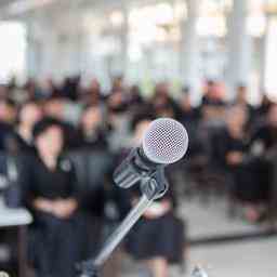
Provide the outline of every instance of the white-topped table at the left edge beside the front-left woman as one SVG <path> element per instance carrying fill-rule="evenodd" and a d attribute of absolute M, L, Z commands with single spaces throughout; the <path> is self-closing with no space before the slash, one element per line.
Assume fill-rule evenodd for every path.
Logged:
<path fill-rule="evenodd" d="M 27 210 L 0 205 L 0 228 L 17 228 L 18 277 L 27 277 L 27 226 L 31 222 L 31 214 Z"/>

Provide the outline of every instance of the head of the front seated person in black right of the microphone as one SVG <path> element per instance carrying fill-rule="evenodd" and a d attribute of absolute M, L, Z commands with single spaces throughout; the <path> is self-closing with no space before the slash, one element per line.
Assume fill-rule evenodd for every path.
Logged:
<path fill-rule="evenodd" d="M 243 106 L 235 105 L 227 109 L 226 123 L 229 130 L 243 130 L 248 120 L 247 109 Z"/>

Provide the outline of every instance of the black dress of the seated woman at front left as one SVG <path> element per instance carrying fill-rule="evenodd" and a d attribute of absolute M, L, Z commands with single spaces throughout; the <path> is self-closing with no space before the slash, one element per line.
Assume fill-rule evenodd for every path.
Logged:
<path fill-rule="evenodd" d="M 28 157 L 21 174 L 23 200 L 35 219 L 29 241 L 34 267 L 40 277 L 75 276 L 76 262 L 87 254 L 85 217 L 76 211 L 69 219 L 58 219 L 32 207 L 35 198 L 77 198 L 70 161 L 61 159 L 57 168 L 50 170 L 39 158 Z"/>

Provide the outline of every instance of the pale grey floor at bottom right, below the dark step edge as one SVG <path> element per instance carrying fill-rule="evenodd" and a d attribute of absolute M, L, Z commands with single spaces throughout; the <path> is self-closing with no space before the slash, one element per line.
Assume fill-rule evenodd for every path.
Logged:
<path fill-rule="evenodd" d="M 209 277 L 272 277 L 277 275 L 277 237 L 190 250 L 192 265 L 201 265 Z M 182 276 L 175 274 L 175 276 Z M 188 276 L 188 275 L 187 275 Z"/>

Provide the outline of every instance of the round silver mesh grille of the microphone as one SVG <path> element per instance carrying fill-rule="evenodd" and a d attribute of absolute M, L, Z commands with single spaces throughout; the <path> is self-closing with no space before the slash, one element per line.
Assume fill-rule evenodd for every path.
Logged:
<path fill-rule="evenodd" d="M 171 118 L 154 120 L 143 137 L 143 151 L 153 162 L 169 164 L 183 158 L 188 147 L 186 129 Z"/>

